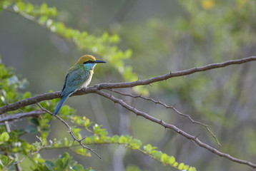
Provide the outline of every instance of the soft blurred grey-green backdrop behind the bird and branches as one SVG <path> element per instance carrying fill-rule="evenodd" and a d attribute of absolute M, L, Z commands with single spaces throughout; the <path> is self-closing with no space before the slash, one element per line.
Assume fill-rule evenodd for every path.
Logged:
<path fill-rule="evenodd" d="M 124 60 L 139 79 L 180 71 L 210 63 L 255 56 L 256 2 L 246 0 L 77 0 L 30 1 L 31 4 L 56 6 L 54 18 L 70 28 L 96 36 L 104 32 L 119 35 L 118 48 L 132 51 Z M 99 60 L 107 56 L 79 49 L 23 17 L 2 11 L 0 14 L 0 53 L 6 66 L 15 68 L 29 86 L 21 91 L 33 95 L 61 90 L 67 70 L 80 56 L 92 54 Z M 144 100 L 126 98 L 138 110 L 176 125 L 218 150 L 251 162 L 256 161 L 256 77 L 255 62 L 228 66 L 146 86 L 149 97 L 160 99 L 195 120 L 209 125 L 217 135 L 218 146 L 205 128 Z M 102 82 L 126 81 L 113 63 L 98 65 L 91 86 Z M 123 90 L 134 93 L 131 88 Z M 132 135 L 150 143 L 176 160 L 197 170 L 252 170 L 219 157 L 193 142 L 164 130 L 161 126 L 137 117 L 119 105 L 89 94 L 69 98 L 65 103 L 106 128 L 109 135 Z M 16 123 L 19 127 L 24 124 Z M 59 120 L 51 123 L 51 138 L 69 136 Z M 57 131 L 57 130 L 61 130 Z M 62 133 L 64 132 L 64 133 Z M 33 142 L 32 137 L 30 138 Z M 94 147 L 93 147 L 94 148 Z M 140 170 L 174 170 L 119 145 L 95 147 L 103 157 L 74 159 L 94 170 L 122 171 L 137 165 Z M 63 150 L 41 152 L 46 158 L 57 157 Z"/>

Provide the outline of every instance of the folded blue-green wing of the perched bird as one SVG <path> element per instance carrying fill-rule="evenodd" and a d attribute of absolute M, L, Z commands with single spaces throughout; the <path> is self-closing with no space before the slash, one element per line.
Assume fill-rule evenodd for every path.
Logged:
<path fill-rule="evenodd" d="M 69 71 L 64 81 L 61 90 L 61 97 L 71 95 L 77 88 L 82 86 L 84 81 L 89 78 L 89 71 L 84 71 L 82 68 Z"/>

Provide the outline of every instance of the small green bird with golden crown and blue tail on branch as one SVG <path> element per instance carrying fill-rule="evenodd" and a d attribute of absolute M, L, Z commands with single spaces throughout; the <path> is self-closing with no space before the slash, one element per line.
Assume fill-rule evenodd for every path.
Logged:
<path fill-rule="evenodd" d="M 94 74 L 94 67 L 97 63 L 106 63 L 105 61 L 96 60 L 92 55 L 84 55 L 79 58 L 77 63 L 69 68 L 65 76 L 64 85 L 59 93 L 59 98 L 61 99 L 56 106 L 54 113 L 52 114 L 51 120 L 54 115 L 59 113 L 61 106 L 67 100 L 67 98 L 76 92 L 79 88 L 86 88 L 92 81 L 92 75 Z M 48 126 L 51 123 L 51 120 Z"/>

